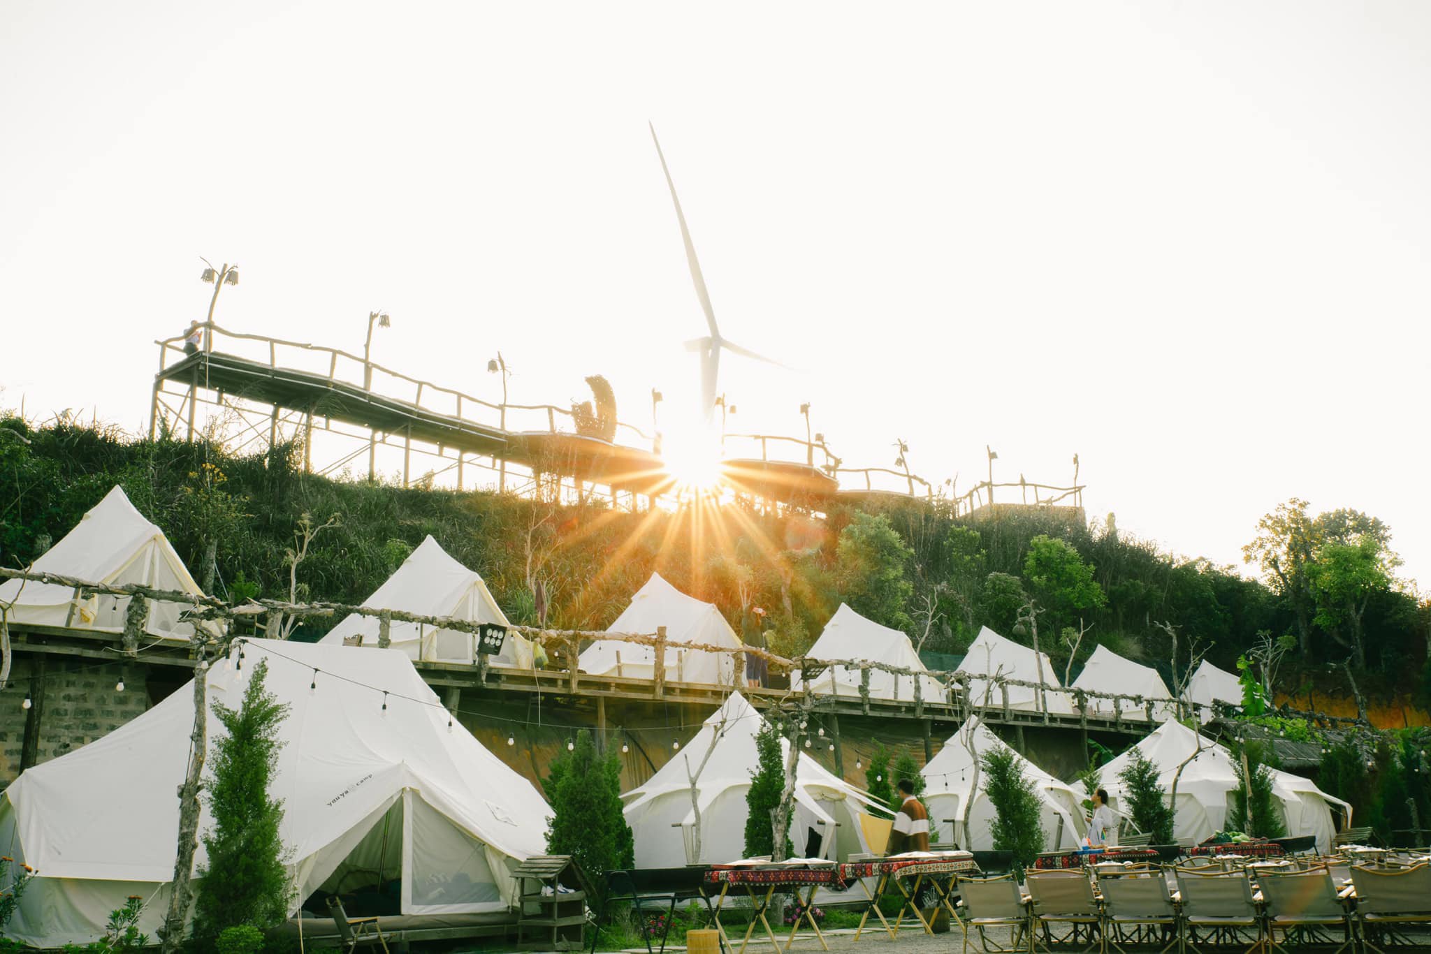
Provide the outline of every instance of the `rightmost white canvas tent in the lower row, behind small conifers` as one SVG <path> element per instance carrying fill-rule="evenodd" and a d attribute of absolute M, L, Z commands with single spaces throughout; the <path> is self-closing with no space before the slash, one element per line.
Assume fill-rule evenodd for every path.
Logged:
<path fill-rule="evenodd" d="M 1158 784 L 1165 792 L 1172 791 L 1172 780 L 1178 765 L 1188 759 L 1202 739 L 1202 751 L 1188 762 L 1178 780 L 1178 804 L 1173 807 L 1173 838 L 1191 845 L 1212 837 L 1226 825 L 1236 790 L 1236 769 L 1226 748 L 1199 737 L 1182 722 L 1168 719 L 1155 732 L 1145 737 L 1102 769 L 1103 788 L 1108 790 L 1109 805 L 1122 811 L 1122 771 L 1132 764 L 1135 752 L 1142 752 L 1158 767 Z M 1349 818 L 1351 807 L 1317 788 L 1299 775 L 1274 769 L 1274 794 L 1282 811 L 1282 821 L 1289 835 L 1315 835 L 1317 847 L 1324 854 L 1331 848 L 1337 825 L 1332 807 Z"/>

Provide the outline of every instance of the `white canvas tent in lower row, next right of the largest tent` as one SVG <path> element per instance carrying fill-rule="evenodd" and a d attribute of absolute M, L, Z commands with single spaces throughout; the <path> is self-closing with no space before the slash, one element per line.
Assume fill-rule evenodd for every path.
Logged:
<path fill-rule="evenodd" d="M 670 762 L 644 785 L 621 797 L 627 824 L 635 835 L 637 867 L 680 867 L 737 861 L 741 857 L 750 814 L 746 792 L 760 762 L 756 734 L 763 725 L 760 712 L 740 692 L 733 692 Z M 687 765 L 695 772 L 713 739 L 716 749 L 697 780 L 701 857 L 693 858 L 695 812 Z M 788 755 L 787 739 L 781 739 L 781 749 Z M 843 861 L 851 854 L 870 851 L 859 820 L 869 804 L 863 792 L 801 752 L 796 768 L 796 810 L 790 822 L 794 857 L 810 857 L 811 831 L 820 838 L 819 857 Z M 680 837 L 673 827 L 680 828 Z M 883 848 L 879 845 L 876 850 Z"/>

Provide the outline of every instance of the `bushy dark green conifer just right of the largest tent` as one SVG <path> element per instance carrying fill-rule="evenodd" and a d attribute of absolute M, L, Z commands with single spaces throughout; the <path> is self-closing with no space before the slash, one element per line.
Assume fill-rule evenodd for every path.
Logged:
<path fill-rule="evenodd" d="M 621 812 L 621 761 L 598 755 L 591 732 L 580 729 L 571 751 L 552 759 L 544 788 L 552 808 L 547 851 L 575 858 L 595 884 L 607 871 L 635 864 L 635 840 Z"/>

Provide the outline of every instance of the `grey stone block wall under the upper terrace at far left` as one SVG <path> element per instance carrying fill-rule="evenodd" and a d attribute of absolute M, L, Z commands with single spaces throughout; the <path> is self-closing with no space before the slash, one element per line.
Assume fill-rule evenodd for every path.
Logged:
<path fill-rule="evenodd" d="M 20 774 L 26 721 L 37 711 L 40 734 L 36 761 L 73 752 L 107 735 L 150 707 L 147 667 L 93 659 L 44 659 L 44 689 L 36 685 L 36 657 L 19 655 L 10 682 L 0 689 L 0 785 Z M 124 688 L 117 684 L 123 679 Z M 31 698 L 31 708 L 24 699 Z"/>

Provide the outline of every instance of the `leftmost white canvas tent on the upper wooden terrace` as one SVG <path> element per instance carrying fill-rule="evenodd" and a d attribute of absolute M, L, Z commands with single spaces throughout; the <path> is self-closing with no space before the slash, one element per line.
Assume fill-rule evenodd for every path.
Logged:
<path fill-rule="evenodd" d="M 90 584 L 140 585 L 202 595 L 165 532 L 145 519 L 119 486 L 34 561 L 31 571 Z M 110 595 L 77 599 L 73 588 L 59 584 L 10 579 L 0 585 L 0 605 L 7 606 L 10 622 L 119 632 L 124 628 L 129 601 L 129 596 Z M 162 639 L 187 641 L 193 625 L 180 622 L 179 616 L 189 608 L 149 601 L 146 631 Z"/>

